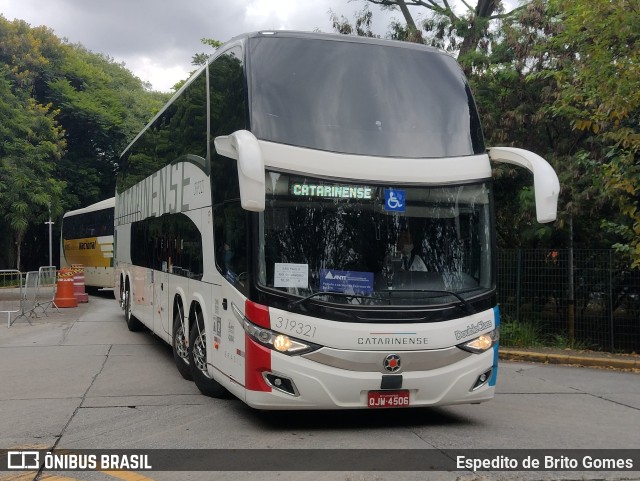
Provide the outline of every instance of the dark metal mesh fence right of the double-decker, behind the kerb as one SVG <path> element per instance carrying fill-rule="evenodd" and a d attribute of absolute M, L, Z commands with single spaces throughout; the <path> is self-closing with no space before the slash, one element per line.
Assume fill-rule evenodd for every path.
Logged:
<path fill-rule="evenodd" d="M 497 267 L 505 341 L 640 351 L 640 271 L 615 251 L 502 249 Z"/>

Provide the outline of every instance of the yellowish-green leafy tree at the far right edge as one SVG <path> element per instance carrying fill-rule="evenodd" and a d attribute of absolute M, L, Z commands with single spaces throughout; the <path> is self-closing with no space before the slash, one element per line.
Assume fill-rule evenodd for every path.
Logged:
<path fill-rule="evenodd" d="M 640 3 L 550 0 L 560 30 L 549 48 L 562 52 L 546 74 L 555 81 L 551 111 L 584 136 L 587 151 L 620 216 L 603 223 L 616 247 L 640 268 Z"/>

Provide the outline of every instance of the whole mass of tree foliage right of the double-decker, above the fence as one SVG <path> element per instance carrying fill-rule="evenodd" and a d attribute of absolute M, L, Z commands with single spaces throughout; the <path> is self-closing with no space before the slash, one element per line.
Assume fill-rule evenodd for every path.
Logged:
<path fill-rule="evenodd" d="M 529 0 L 509 12 L 500 2 L 464 2 L 463 15 L 445 0 L 368 3 L 403 11 L 390 38 L 459 54 L 488 145 L 532 150 L 556 169 L 559 219 L 541 226 L 530 175 L 495 166 L 500 245 L 615 244 L 640 266 L 638 0 Z M 403 5 L 430 15 L 414 21 Z M 345 24 L 334 29 L 359 33 Z"/>

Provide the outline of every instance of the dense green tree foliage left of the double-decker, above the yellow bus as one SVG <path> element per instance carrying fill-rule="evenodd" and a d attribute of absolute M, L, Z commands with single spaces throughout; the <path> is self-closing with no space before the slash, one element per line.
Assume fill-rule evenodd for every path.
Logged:
<path fill-rule="evenodd" d="M 0 231 L 12 233 L 0 266 L 42 263 L 49 206 L 57 219 L 113 195 L 119 153 L 166 97 L 104 55 L 0 15 Z M 21 256 L 26 238 L 39 242 Z"/>

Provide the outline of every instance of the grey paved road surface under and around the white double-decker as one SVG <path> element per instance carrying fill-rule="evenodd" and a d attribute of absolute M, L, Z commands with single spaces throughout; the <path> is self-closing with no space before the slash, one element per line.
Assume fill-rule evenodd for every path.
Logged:
<path fill-rule="evenodd" d="M 640 375 L 633 372 L 501 362 L 498 394 L 481 405 L 265 412 L 238 400 L 200 395 L 178 374 L 167 345 L 148 332 L 127 330 L 113 298 L 91 296 L 76 309 L 48 313 L 0 327 L 0 449 L 268 448 L 283 449 L 278 456 L 286 457 L 296 456 L 296 449 L 322 448 L 335 450 L 338 458 L 364 452 L 348 450 L 372 449 L 394 456 L 394 449 L 494 449 L 500 455 L 509 449 L 640 448 Z M 0 480 L 640 480 L 640 463 L 633 472 L 478 474 L 260 472 L 251 467 L 235 472 L 0 471 Z"/>

